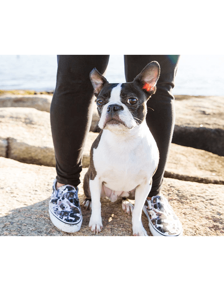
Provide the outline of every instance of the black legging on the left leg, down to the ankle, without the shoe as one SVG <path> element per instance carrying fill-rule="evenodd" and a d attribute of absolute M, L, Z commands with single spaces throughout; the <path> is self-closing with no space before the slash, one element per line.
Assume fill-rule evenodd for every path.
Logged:
<path fill-rule="evenodd" d="M 108 61 L 109 55 L 58 55 L 50 119 L 60 184 L 80 184 L 81 158 L 92 119 L 89 74 L 94 67 L 103 74 Z"/>

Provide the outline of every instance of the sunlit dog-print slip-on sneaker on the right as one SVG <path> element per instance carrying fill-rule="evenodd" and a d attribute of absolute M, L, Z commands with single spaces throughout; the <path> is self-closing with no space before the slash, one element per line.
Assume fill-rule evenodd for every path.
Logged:
<path fill-rule="evenodd" d="M 182 226 L 168 200 L 162 195 L 147 198 L 143 211 L 149 220 L 153 236 L 182 236 Z"/>

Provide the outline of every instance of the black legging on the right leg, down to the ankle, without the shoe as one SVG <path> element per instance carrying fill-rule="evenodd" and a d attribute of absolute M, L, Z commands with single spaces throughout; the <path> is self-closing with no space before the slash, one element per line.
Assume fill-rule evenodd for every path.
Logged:
<path fill-rule="evenodd" d="M 172 140 L 175 110 L 172 88 L 177 72 L 179 55 L 125 55 L 125 77 L 132 82 L 151 61 L 160 65 L 156 93 L 147 102 L 146 122 L 159 149 L 159 165 L 153 175 L 149 196 L 160 194 L 169 147 Z"/>

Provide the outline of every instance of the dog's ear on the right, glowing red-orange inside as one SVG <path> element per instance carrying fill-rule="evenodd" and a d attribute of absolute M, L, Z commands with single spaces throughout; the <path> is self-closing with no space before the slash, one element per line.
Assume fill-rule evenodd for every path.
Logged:
<path fill-rule="evenodd" d="M 159 63 L 153 61 L 140 72 L 133 82 L 136 82 L 138 85 L 140 85 L 144 91 L 153 94 L 156 91 L 156 83 L 159 79 L 159 74 Z"/>

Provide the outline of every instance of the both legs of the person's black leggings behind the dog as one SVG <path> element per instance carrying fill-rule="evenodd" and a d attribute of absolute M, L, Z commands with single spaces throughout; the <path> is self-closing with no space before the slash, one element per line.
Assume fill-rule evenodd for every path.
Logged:
<path fill-rule="evenodd" d="M 90 71 L 103 74 L 109 55 L 58 55 L 56 88 L 50 119 L 55 148 L 57 180 L 62 184 L 80 184 L 81 159 L 90 130 L 95 97 Z M 125 55 L 125 78 L 132 82 L 151 61 L 160 65 L 156 94 L 147 102 L 146 122 L 159 148 L 159 166 L 153 175 L 149 196 L 160 194 L 165 165 L 175 122 L 174 87 L 179 55 Z"/>

